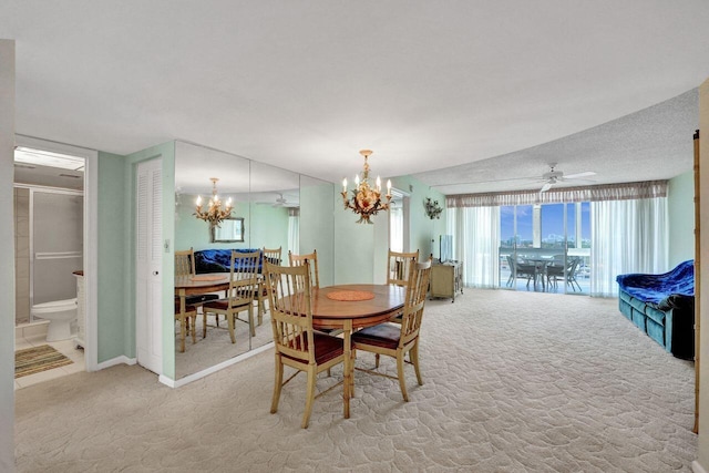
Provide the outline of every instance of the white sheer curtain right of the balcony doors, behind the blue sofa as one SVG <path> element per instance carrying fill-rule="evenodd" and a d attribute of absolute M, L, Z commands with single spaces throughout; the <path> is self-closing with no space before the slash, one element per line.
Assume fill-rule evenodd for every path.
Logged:
<path fill-rule="evenodd" d="M 590 203 L 590 295 L 618 295 L 616 276 L 669 270 L 667 197 Z"/>

